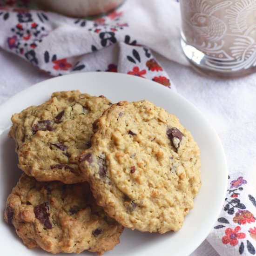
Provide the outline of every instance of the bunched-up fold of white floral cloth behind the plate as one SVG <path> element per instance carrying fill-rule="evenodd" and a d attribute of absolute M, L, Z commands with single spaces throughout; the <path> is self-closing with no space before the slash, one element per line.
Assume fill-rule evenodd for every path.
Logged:
<path fill-rule="evenodd" d="M 169 8 L 167 1 L 162 4 Z M 91 20 L 1 6 L 0 47 L 52 76 L 118 71 L 174 88 L 151 49 L 186 63 L 180 46 L 171 39 L 179 40 L 179 26 L 162 26 L 163 20 L 172 23 L 179 20 L 179 15 L 175 18 L 167 12 L 163 16 L 158 5 L 153 1 L 149 4 L 145 0 L 129 0 L 117 10 Z M 173 1 L 171 6 L 178 11 L 178 3 Z"/>

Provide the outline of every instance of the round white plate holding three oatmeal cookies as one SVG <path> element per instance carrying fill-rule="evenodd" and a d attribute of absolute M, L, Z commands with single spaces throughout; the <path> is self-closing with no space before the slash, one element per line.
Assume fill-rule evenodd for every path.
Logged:
<path fill-rule="evenodd" d="M 92 95 L 105 95 L 112 102 L 147 99 L 176 115 L 198 142 L 202 159 L 202 188 L 195 206 L 185 217 L 178 232 L 164 235 L 125 229 L 121 243 L 109 256 L 185 256 L 192 253 L 206 238 L 220 214 L 227 189 L 227 164 L 221 142 L 209 122 L 189 101 L 172 90 L 126 74 L 80 73 L 40 82 L 16 94 L 0 106 L 0 254 L 19 256 L 49 256 L 41 249 L 27 249 L 14 229 L 3 221 L 8 194 L 18 181 L 17 155 L 12 139 L 8 138 L 11 115 L 30 105 L 46 101 L 54 91 L 80 89 Z M 65 254 L 60 254 L 64 256 Z M 67 254 L 66 254 L 67 255 Z M 72 254 L 73 255 L 73 254 Z M 75 255 L 75 254 L 74 254 Z M 93 255 L 83 252 L 82 255 Z"/>

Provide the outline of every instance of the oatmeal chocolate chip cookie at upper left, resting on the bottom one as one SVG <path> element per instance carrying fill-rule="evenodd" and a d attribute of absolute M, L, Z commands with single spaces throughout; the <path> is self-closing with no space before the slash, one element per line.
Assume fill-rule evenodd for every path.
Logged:
<path fill-rule="evenodd" d="M 92 123 L 111 105 L 104 96 L 56 92 L 40 106 L 12 116 L 19 167 L 38 181 L 83 182 L 77 156 L 90 146 Z"/>

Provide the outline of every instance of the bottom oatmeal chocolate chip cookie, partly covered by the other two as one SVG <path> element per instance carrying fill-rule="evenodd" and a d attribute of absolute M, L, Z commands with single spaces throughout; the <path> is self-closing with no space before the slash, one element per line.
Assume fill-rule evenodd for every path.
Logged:
<path fill-rule="evenodd" d="M 96 205 L 87 182 L 38 182 L 26 174 L 8 196 L 4 218 L 28 248 L 51 253 L 103 254 L 119 243 L 123 230 Z"/>

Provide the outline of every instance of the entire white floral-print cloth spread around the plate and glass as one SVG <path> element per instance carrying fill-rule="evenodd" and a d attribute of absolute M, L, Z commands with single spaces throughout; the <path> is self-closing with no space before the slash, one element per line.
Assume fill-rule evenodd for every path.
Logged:
<path fill-rule="evenodd" d="M 115 13 L 105 17 L 105 21 L 86 21 L 85 24 L 84 20 L 54 13 L 30 11 L 30 16 L 24 10 L 0 9 L 0 47 L 32 62 L 48 74 L 109 70 L 158 80 L 171 88 L 174 88 L 174 81 L 178 92 L 200 108 L 211 121 L 227 155 L 227 199 L 207 240 L 220 255 L 256 254 L 256 75 L 216 81 L 164 59 L 162 56 L 187 65 L 179 43 L 181 17 L 179 4 L 175 1 L 127 0 Z M 18 24 L 25 31 L 22 36 L 17 34 L 21 30 Z M 95 31 L 97 29 L 101 31 Z M 27 30 L 33 33 L 40 31 L 37 35 L 31 32 L 28 38 Z M 115 34 L 116 43 L 113 34 L 106 34 L 106 31 Z M 105 34 L 100 36 L 100 33 Z M 17 46 L 19 37 L 20 45 Z M 93 51 L 95 49 L 97 51 Z M 2 53 L 1 56 L 7 54 Z M 2 70 L 6 71 L 0 76 L 2 100 L 12 95 L 13 89 L 19 90 L 37 79 L 48 77 L 33 66 L 27 66 L 26 70 L 16 63 L 6 66 L 6 59 L 0 58 L 0 65 L 4 65 Z M 10 70 L 11 66 L 16 69 Z M 21 78 L 24 74 L 21 71 L 30 77 L 26 77 L 27 84 L 18 87 L 12 77 L 20 74 L 20 80 L 17 78 L 16 81 L 23 81 L 25 78 Z M 202 251 L 200 255 L 205 254 Z"/>

